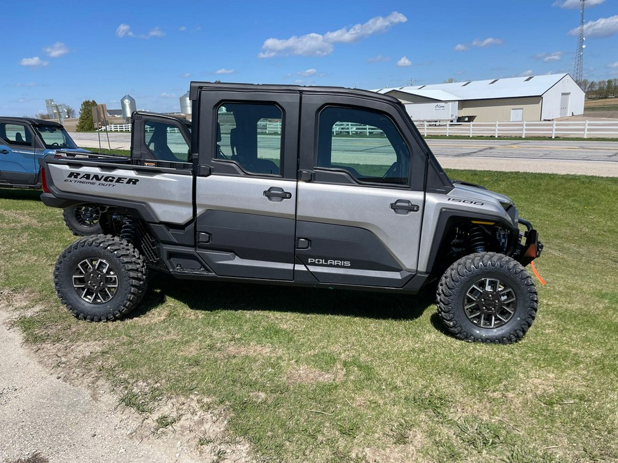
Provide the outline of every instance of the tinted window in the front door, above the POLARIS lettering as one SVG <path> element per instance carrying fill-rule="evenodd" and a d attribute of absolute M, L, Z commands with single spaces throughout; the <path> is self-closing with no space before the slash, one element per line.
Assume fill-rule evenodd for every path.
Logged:
<path fill-rule="evenodd" d="M 343 169 L 359 182 L 408 185 L 410 150 L 385 115 L 328 107 L 318 130 L 317 167 Z"/>

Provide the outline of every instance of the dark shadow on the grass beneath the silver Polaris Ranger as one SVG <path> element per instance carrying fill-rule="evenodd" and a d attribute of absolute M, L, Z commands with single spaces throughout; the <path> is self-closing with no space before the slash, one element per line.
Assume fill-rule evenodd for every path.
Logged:
<path fill-rule="evenodd" d="M 426 309 L 433 310 L 435 307 L 435 292 L 431 288 L 410 295 L 218 281 L 183 281 L 152 272 L 148 292 L 130 318 L 144 316 L 161 305 L 165 298 L 179 300 L 192 310 L 279 311 L 379 320 L 414 320 L 422 316 Z"/>

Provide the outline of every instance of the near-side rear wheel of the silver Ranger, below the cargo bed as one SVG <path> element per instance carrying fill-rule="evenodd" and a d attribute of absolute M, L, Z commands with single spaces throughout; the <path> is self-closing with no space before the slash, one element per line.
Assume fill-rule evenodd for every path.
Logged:
<path fill-rule="evenodd" d="M 73 316 L 89 322 L 122 318 L 146 292 L 147 269 L 132 244 L 110 235 L 78 239 L 60 254 L 54 285 Z"/>

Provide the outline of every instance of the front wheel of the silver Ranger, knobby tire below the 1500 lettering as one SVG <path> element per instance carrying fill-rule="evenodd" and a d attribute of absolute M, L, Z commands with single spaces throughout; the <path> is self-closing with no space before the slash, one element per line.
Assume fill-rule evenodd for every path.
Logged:
<path fill-rule="evenodd" d="M 455 337 L 510 344 L 536 316 L 538 296 L 525 268 L 503 254 L 479 252 L 446 270 L 437 289 L 437 309 Z"/>

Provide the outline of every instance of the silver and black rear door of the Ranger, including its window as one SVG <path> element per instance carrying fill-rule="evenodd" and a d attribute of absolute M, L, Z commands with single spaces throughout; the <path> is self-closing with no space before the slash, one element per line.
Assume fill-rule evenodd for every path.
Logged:
<path fill-rule="evenodd" d="M 292 280 L 299 93 L 203 89 L 199 104 L 198 254 L 220 276 Z"/>

